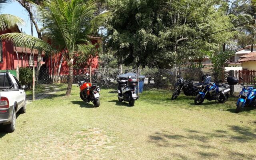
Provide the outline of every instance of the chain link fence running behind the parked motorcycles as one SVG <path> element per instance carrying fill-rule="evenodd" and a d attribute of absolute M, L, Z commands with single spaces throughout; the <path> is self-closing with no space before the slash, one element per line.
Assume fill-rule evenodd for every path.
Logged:
<path fill-rule="evenodd" d="M 74 68 L 73 69 L 73 87 L 77 86 L 78 80 L 86 77 L 86 73 L 90 74 L 90 68 Z M 185 79 L 194 82 L 200 82 L 203 75 L 208 74 L 213 77 L 210 72 L 202 72 L 199 68 L 181 68 L 181 69 L 118 69 L 118 68 L 93 68 L 91 69 L 91 81 L 93 85 L 100 86 L 101 89 L 110 89 L 117 92 L 118 75 L 125 73 L 134 73 L 145 76 L 140 79 L 143 82 L 143 91 L 153 89 L 171 90 L 177 81 L 176 76 L 180 75 Z M 221 74 L 220 80 L 226 80 L 230 76 L 228 72 Z M 212 78 L 213 80 L 213 78 Z M 35 99 L 53 98 L 56 96 L 64 96 L 69 81 L 69 71 L 60 70 L 60 72 L 52 72 L 50 68 L 41 68 L 38 79 L 36 80 Z M 61 92 L 60 92 L 61 91 Z M 241 86 L 234 86 L 234 92 L 240 92 Z M 28 98 L 32 94 L 28 91 Z M 104 95 L 101 95 L 104 96 Z"/>

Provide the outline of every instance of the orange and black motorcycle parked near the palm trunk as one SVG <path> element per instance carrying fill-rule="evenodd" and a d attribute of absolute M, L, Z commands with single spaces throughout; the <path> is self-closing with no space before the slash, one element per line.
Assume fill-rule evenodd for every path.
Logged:
<path fill-rule="evenodd" d="M 86 103 L 91 101 L 95 107 L 99 107 L 100 88 L 96 85 L 92 86 L 92 84 L 88 82 L 88 76 L 89 74 L 86 73 L 86 78 L 78 81 L 78 86 L 80 87 L 80 98 Z"/>

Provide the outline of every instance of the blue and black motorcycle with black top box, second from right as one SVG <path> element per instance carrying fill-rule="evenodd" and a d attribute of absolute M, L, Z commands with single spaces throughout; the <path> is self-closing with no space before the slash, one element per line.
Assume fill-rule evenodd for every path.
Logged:
<path fill-rule="evenodd" d="M 228 77 L 226 83 L 222 83 L 222 81 L 211 83 L 211 77 L 208 76 L 203 84 L 204 89 L 202 92 L 199 92 L 196 95 L 194 103 L 196 105 L 202 104 L 205 99 L 218 100 L 220 103 L 225 103 L 229 98 L 230 87 L 234 84 L 237 84 L 238 79 L 234 77 Z"/>

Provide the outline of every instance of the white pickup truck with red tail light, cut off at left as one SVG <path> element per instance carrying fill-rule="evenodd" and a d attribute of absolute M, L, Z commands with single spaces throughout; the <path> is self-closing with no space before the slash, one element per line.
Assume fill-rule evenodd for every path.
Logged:
<path fill-rule="evenodd" d="M 16 113 L 26 112 L 26 93 L 15 76 L 0 72 L 0 125 L 5 132 L 14 132 Z"/>

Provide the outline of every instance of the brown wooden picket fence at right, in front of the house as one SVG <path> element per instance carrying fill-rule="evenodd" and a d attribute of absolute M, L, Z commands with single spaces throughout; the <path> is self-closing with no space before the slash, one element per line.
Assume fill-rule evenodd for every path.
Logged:
<path fill-rule="evenodd" d="M 234 70 L 224 71 L 223 80 L 226 82 L 228 76 L 242 77 L 243 80 L 239 80 L 243 84 L 256 84 L 256 70 Z"/>

